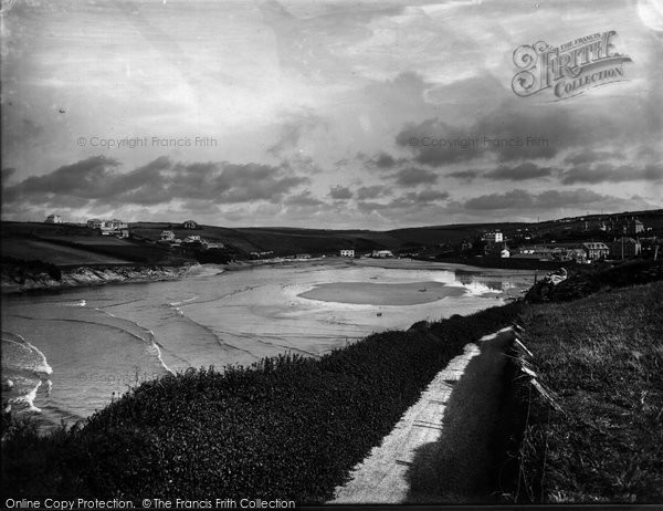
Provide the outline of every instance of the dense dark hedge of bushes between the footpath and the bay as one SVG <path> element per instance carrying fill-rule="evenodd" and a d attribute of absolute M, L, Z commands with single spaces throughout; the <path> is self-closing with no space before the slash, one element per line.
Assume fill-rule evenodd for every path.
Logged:
<path fill-rule="evenodd" d="M 319 359 L 288 354 L 144 383 L 62 436 L 66 451 L 49 449 L 56 462 L 40 461 L 59 467 L 61 493 L 324 501 L 466 343 L 519 307 L 373 334 Z M 27 444 L 22 456 L 39 460 L 41 445 Z M 12 484 L 19 461 L 4 451 L 7 486 L 25 488 Z"/>

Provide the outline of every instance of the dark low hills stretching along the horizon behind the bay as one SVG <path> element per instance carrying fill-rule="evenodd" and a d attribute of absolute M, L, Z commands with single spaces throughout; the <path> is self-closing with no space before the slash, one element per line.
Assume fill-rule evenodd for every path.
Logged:
<path fill-rule="evenodd" d="M 199 226 L 198 229 L 185 229 L 177 222 L 133 222 L 130 223 L 130 240 L 110 240 L 97 236 L 93 230 L 74 223 L 35 223 L 35 222 L 1 222 L 0 234 L 3 240 L 2 254 L 25 259 L 31 255 L 31 248 L 36 247 L 34 240 L 56 244 L 53 248 L 53 263 L 62 264 L 77 262 L 74 250 L 65 251 L 63 246 L 76 249 L 81 264 L 88 264 L 90 258 L 80 251 L 112 257 L 131 262 L 175 262 L 168 250 L 155 243 L 162 230 L 172 230 L 177 238 L 188 234 L 199 234 L 207 241 L 220 242 L 227 247 L 231 258 L 249 258 L 251 252 L 273 252 L 273 255 L 292 255 L 296 253 L 335 253 L 341 249 L 355 249 L 357 252 L 369 252 L 377 249 L 388 249 L 397 252 L 408 252 L 420 249 L 439 247 L 457 247 L 463 240 L 474 240 L 482 232 L 499 229 L 509 240 L 543 240 L 564 241 L 610 237 L 600 231 L 598 226 L 617 225 L 630 218 L 640 219 L 645 228 L 645 236 L 663 236 L 663 209 L 650 211 L 627 211 L 610 215 L 590 215 L 585 217 L 562 218 L 543 222 L 493 222 L 493 223 L 461 223 L 448 226 L 413 227 L 388 231 L 362 229 L 304 229 L 294 227 L 255 227 L 227 228 L 219 226 Z M 527 238 L 525 238 L 527 236 Z M 20 240 L 32 240 L 31 243 Z M 42 249 L 45 247 L 41 244 Z M 9 252 L 7 251 L 9 250 Z M 11 253 L 10 253 L 11 252 Z M 57 252 L 57 253 L 55 253 Z M 67 253 L 65 253 L 67 252 Z M 69 258 L 69 259 L 67 259 Z M 34 259 L 49 260 L 49 251 L 34 251 Z M 99 263 L 107 262 L 99 258 Z"/>

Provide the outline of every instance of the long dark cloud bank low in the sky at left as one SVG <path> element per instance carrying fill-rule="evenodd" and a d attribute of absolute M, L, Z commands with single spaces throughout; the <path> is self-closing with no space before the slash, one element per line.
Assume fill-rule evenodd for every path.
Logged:
<path fill-rule="evenodd" d="M 277 202 L 299 185 L 308 182 L 282 167 L 260 164 L 172 163 L 167 157 L 120 173 L 119 163 L 95 156 L 66 165 L 50 174 L 29 177 L 13 186 L 3 187 L 6 201 L 43 204 L 82 200 L 95 206 L 118 204 L 157 205 L 172 199 L 206 199 L 210 202 L 245 202 L 266 200 Z"/>

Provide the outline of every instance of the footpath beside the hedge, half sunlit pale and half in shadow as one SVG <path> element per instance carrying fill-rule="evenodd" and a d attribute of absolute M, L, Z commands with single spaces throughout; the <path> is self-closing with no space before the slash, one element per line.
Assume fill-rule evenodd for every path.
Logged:
<path fill-rule="evenodd" d="M 462 503 L 486 499 L 490 441 L 511 328 L 467 344 L 336 489 L 329 503 Z"/>

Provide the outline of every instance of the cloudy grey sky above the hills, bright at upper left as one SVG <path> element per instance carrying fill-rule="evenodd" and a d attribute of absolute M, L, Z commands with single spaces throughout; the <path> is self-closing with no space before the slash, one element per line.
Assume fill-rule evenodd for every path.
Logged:
<path fill-rule="evenodd" d="M 2 2 L 3 220 L 393 229 L 663 208 L 661 0 Z M 614 31 L 620 81 L 515 94 Z"/>

